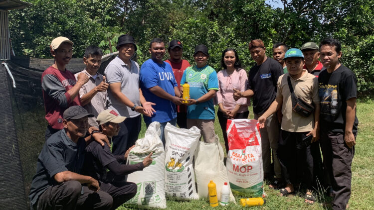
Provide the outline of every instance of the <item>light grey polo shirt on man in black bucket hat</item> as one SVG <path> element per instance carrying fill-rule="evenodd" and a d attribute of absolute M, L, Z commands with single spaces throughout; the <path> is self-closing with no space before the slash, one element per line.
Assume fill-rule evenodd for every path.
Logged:
<path fill-rule="evenodd" d="M 131 67 L 116 56 L 105 68 L 105 77 L 107 83 L 121 83 L 121 92 L 135 105 L 140 105 L 139 93 L 139 65 L 131 61 Z M 136 117 L 140 113 L 131 110 L 131 107 L 123 104 L 108 88 L 109 108 L 117 111 L 121 116 Z"/>

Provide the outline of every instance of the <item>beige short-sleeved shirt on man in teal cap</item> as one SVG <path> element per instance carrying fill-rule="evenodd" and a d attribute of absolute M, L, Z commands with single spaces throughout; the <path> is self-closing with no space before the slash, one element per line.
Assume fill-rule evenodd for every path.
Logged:
<path fill-rule="evenodd" d="M 286 73 L 278 79 L 277 98 L 283 101 L 281 129 L 289 132 L 309 132 L 314 128 L 314 113 L 304 117 L 292 110 L 291 93 L 288 87 L 287 77 L 291 78 L 291 84 L 296 97 L 309 104 L 319 104 L 318 78 L 303 70 L 306 74 L 294 80 Z M 313 102 L 313 103 L 312 103 Z"/>

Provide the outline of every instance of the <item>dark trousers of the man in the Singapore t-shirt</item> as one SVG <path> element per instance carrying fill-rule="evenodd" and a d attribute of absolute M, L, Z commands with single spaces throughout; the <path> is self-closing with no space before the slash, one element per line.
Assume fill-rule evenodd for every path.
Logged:
<path fill-rule="evenodd" d="M 320 141 L 324 166 L 333 188 L 333 209 L 345 210 L 351 198 L 351 166 L 355 147 L 348 148 L 344 133 L 332 132 L 326 126 L 321 126 Z"/>

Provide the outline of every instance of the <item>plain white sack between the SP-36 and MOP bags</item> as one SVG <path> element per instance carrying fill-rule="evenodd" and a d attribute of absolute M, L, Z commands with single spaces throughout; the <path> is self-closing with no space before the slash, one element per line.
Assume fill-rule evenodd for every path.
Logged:
<path fill-rule="evenodd" d="M 208 183 L 213 180 L 217 189 L 218 201 L 221 200 L 221 189 L 225 182 L 228 183 L 223 157 L 224 153 L 218 136 L 213 143 L 198 141 L 194 158 L 197 194 L 200 198 L 208 199 Z M 229 201 L 235 203 L 231 191 Z"/>

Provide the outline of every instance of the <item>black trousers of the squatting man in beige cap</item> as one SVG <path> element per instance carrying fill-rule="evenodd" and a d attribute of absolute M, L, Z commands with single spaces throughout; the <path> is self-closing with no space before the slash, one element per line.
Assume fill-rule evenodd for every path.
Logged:
<path fill-rule="evenodd" d="M 100 182 L 100 190 L 108 193 L 113 198 L 111 210 L 116 210 L 119 206 L 132 199 L 137 193 L 138 186 L 132 182 Z"/>

